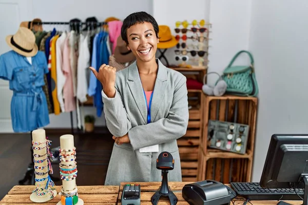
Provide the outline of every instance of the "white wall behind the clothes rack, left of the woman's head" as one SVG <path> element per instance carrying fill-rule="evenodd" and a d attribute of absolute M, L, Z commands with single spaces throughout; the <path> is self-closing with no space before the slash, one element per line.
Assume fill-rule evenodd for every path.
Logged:
<path fill-rule="evenodd" d="M 69 22 L 72 18 L 79 18 L 85 22 L 87 17 L 95 16 L 99 21 L 104 21 L 107 17 L 114 16 L 123 20 L 132 12 L 145 11 L 152 14 L 152 1 L 132 0 L 123 3 L 123 0 L 98 1 L 98 0 L 53 0 L 49 1 L 32 0 L 33 1 L 33 18 L 41 18 L 45 22 Z M 45 4 L 48 4 L 48 7 Z M 129 6 L 127 6 L 129 5 Z M 45 30 L 51 30 L 53 27 L 45 25 Z M 63 30 L 68 27 L 55 26 L 56 29 Z M 101 117 L 97 117 L 96 109 L 93 107 L 85 107 L 84 115 L 93 114 L 97 119 L 96 126 L 105 126 L 104 113 Z M 70 114 L 61 113 L 60 115 L 50 114 L 50 124 L 46 128 L 69 128 Z M 76 114 L 73 112 L 73 123 L 76 127 Z"/>

